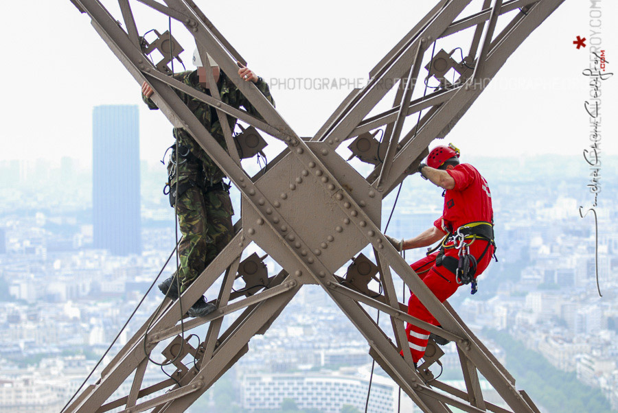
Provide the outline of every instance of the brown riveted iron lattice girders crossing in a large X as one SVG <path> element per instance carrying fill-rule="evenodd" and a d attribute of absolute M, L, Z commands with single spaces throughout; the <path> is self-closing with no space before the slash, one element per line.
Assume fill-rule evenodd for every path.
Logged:
<path fill-rule="evenodd" d="M 65 408 L 65 412 L 106 412 L 123 408 L 124 412 L 183 412 L 206 392 L 249 349 L 249 340 L 263 334 L 301 287 L 317 284 L 330 296 L 341 312 L 364 336 L 369 353 L 424 412 L 450 412 L 450 407 L 466 412 L 538 413 L 525 391 L 517 390 L 514 378 L 470 331 L 453 308 L 431 294 L 410 266 L 400 257 L 380 231 L 382 199 L 409 174 L 428 152 L 434 139 L 446 136 L 466 113 L 488 82 L 516 50 L 564 0 L 483 0 L 481 10 L 460 17 L 471 0 L 439 0 L 437 4 L 400 40 L 369 72 L 363 88 L 354 89 L 325 121 L 314 137 L 299 137 L 275 108 L 251 82 L 230 76 L 240 91 L 258 109 L 262 119 L 238 110 L 212 95 L 200 93 L 169 76 L 168 62 L 179 53 L 173 39 L 159 36 L 161 43 L 144 45 L 129 0 L 118 0 L 122 16 L 115 18 L 98 0 L 71 0 L 92 25 L 117 58 L 139 84 L 147 81 L 155 90 L 153 100 L 176 127 L 185 128 L 242 193 L 242 216 L 236 234 L 201 276 L 183 293 L 184 303 L 194 303 L 218 279 L 222 279 L 218 310 L 206 318 L 186 319 L 185 331 L 209 323 L 205 340 L 197 347 L 188 342 L 183 351 L 195 359 L 194 366 L 176 357 L 179 349 L 179 302 L 166 298 L 161 311 L 153 314 L 135 332 L 124 348 L 102 370 L 95 384 L 85 388 Z M 156 10 L 184 25 L 196 42 L 205 61 L 212 56 L 225 73 L 236 73 L 236 61 L 246 64 L 238 51 L 207 19 L 192 0 L 133 0 L 133 3 Z M 468 9 L 466 9 L 468 10 Z M 120 23 L 122 21 L 124 23 Z M 496 30 L 497 22 L 505 25 Z M 461 62 L 453 54 L 438 51 L 429 56 L 437 39 L 469 33 L 470 47 Z M 159 47 L 164 58 L 158 64 L 146 56 L 148 48 Z M 171 53 L 168 54 L 167 50 Z M 430 62 L 431 60 L 431 62 Z M 417 80 L 423 70 L 440 82 L 435 91 L 420 93 Z M 452 72 L 454 71 L 454 72 Z M 424 72 L 423 72 L 424 73 Z M 447 73 L 455 73 L 453 82 Z M 450 78 L 451 75 L 448 75 Z M 423 84 L 423 86 L 425 86 Z M 396 88 L 392 108 L 369 116 L 371 110 Z M 204 126 L 183 104 L 174 89 L 187 93 L 216 109 L 218 117 L 236 117 L 286 145 L 262 172 L 249 176 L 240 163 L 238 150 L 229 129 L 225 129 L 229 153 L 222 149 Z M 418 95 L 415 97 L 414 95 Z M 425 114 L 420 116 L 422 111 Z M 406 119 L 418 121 L 404 128 Z M 415 119 L 412 119 L 413 121 Z M 221 121 L 222 124 L 227 122 Z M 375 148 L 368 132 L 384 128 L 381 145 L 383 159 L 374 162 L 367 176 L 357 172 L 336 152 L 345 141 L 365 139 L 356 145 L 359 158 L 371 161 Z M 255 278 L 239 272 L 242 252 L 257 244 L 283 268 L 279 274 L 266 274 L 267 287 L 256 287 L 253 294 L 233 292 L 237 274 L 245 274 L 247 285 L 257 285 Z M 371 246 L 376 257 L 383 294 L 367 294 L 367 277 L 343 280 L 335 273 L 350 257 Z M 259 261 L 259 259 L 258 259 Z M 254 260 L 253 264 L 257 261 Z M 259 264 L 259 262 L 258 262 Z M 242 268 L 241 268 L 242 270 Z M 398 302 L 393 274 L 416 294 L 442 325 L 438 329 L 407 314 Z M 343 282 L 346 281 L 346 282 Z M 367 312 L 378 309 L 390 317 L 392 331 L 383 331 Z M 233 318 L 222 331 L 223 318 Z M 417 370 L 407 349 L 404 323 L 420 326 L 455 342 L 466 382 L 466 391 L 434 379 L 428 370 Z M 146 331 L 148 334 L 146 335 Z M 173 378 L 143 387 L 150 354 L 169 338 L 175 339 L 163 353 L 176 358 Z M 394 338 L 391 340 L 391 337 Z M 441 355 L 430 340 L 435 355 L 426 357 L 431 364 Z M 176 353 L 174 353 L 176 349 Z M 192 358 L 193 358 L 192 357 Z M 133 375 L 133 385 L 124 397 L 111 395 Z M 511 410 L 485 401 L 479 373 L 489 381 Z M 162 392 L 162 390 L 168 390 Z M 159 393 L 157 393 L 159 392 Z M 156 397 L 152 395 L 157 393 Z M 149 399 L 150 397 L 150 399 Z M 153 397 L 153 398 L 152 398 Z"/>

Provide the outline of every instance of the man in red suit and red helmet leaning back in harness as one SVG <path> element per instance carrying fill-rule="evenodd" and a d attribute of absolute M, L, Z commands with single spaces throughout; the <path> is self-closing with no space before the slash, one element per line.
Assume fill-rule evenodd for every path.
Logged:
<path fill-rule="evenodd" d="M 411 265 L 429 290 L 442 303 L 460 285 L 472 283 L 489 265 L 494 255 L 492 194 L 487 181 L 468 163 L 459 163 L 459 150 L 453 145 L 437 146 L 420 164 L 421 176 L 444 188 L 444 210 L 433 226 L 411 239 L 393 239 L 401 250 L 430 246 L 442 239 L 439 250 Z M 436 248 L 437 249 L 437 248 Z M 414 294 L 408 314 L 432 325 L 439 323 Z M 417 363 L 425 353 L 429 332 L 409 324 L 406 328 L 410 351 Z"/>

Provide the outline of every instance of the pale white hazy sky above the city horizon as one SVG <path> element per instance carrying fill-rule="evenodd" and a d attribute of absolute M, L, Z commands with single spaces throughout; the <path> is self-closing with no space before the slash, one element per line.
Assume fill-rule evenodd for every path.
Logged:
<path fill-rule="evenodd" d="M 167 19 L 153 18 L 146 6 L 134 3 L 140 33 L 167 29 Z M 197 3 L 249 67 L 273 83 L 285 78 L 366 80 L 374 64 L 434 2 Z M 618 65 L 614 56 L 618 5 L 610 0 L 601 3 L 603 48 L 608 71 L 613 71 Z M 104 4 L 116 12 L 117 1 Z M 590 38 L 588 5 L 584 0 L 565 1 L 511 56 L 446 142 L 453 141 L 464 154 L 581 154 L 589 144 L 584 110 L 589 86 L 582 75 L 589 54 L 588 48 L 577 50 L 572 42 L 577 35 Z M 479 10 L 479 1 L 473 0 L 468 10 L 464 14 Z M 98 104 L 138 104 L 141 158 L 161 158 L 172 143 L 170 124 L 162 113 L 141 103 L 139 85 L 96 34 L 86 14 L 69 0 L 11 1 L 3 6 L 3 14 L 0 160 L 71 156 L 90 163 L 92 108 Z M 190 62 L 194 46 L 183 42 L 182 30 L 174 25 L 172 32 L 184 43 L 187 51 L 181 56 Z M 469 47 L 467 37 L 461 46 Z M 450 51 L 454 46 L 439 42 L 437 50 L 441 47 Z M 301 136 L 314 134 L 350 92 L 350 88 L 271 89 L 277 109 Z M 603 84 L 606 154 L 618 154 L 617 89 L 618 76 Z"/>

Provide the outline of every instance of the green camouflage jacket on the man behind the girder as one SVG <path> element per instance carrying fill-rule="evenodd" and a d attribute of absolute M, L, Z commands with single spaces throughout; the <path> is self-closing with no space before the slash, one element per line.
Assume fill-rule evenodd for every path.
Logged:
<path fill-rule="evenodd" d="M 236 74 L 236 73 L 235 73 Z M 195 88 L 198 91 L 206 93 L 210 95 L 210 91 L 207 88 L 203 88 L 198 82 L 197 71 L 185 71 L 181 73 L 176 73 L 174 75 L 174 79 Z M 255 86 L 258 87 L 260 92 L 266 96 L 266 99 L 270 101 L 273 105 L 275 104 L 273 97 L 271 96 L 271 92 L 268 90 L 268 84 L 262 80 L 262 78 L 258 78 L 258 82 L 255 83 Z M 219 90 L 219 94 L 221 97 L 221 101 L 233 108 L 240 108 L 240 106 L 244 107 L 247 112 L 255 117 L 259 117 L 262 119 L 262 116 L 258 113 L 253 105 L 249 102 L 247 97 L 244 97 L 240 90 L 236 87 L 235 84 L 229 79 L 229 77 L 220 71 L 219 81 L 217 82 L 217 88 Z M 210 132 L 210 134 L 218 141 L 218 143 L 223 147 L 223 149 L 227 150 L 227 145 L 225 143 L 225 137 L 223 135 L 222 127 L 219 123 L 219 119 L 216 113 L 216 110 L 201 102 L 186 93 L 181 91 L 176 91 L 176 95 L 183 100 L 183 102 L 187 105 L 188 108 L 194 113 L 194 115 L 201 121 L 201 123 L 205 126 L 205 128 Z M 151 110 L 158 109 L 155 102 L 152 102 L 152 99 L 141 96 L 144 102 L 148 105 L 148 108 Z M 235 117 L 227 116 L 227 121 L 229 123 L 230 130 L 234 130 L 236 126 Z M 222 178 L 225 177 L 222 170 L 214 163 L 214 161 L 208 156 L 208 154 L 202 149 L 202 147 L 193 139 L 193 137 L 184 130 L 183 128 L 174 128 L 174 138 L 178 141 L 179 145 L 186 147 L 190 154 L 187 158 L 187 161 L 179 161 L 179 165 L 177 167 L 177 171 L 174 171 L 174 165 L 170 163 L 168 165 L 168 172 L 170 174 L 170 185 L 174 185 L 175 178 L 178 176 L 179 182 L 183 180 L 201 180 L 204 179 L 206 185 L 212 185 L 214 183 L 220 182 Z M 200 182 L 198 182 L 200 183 Z"/>

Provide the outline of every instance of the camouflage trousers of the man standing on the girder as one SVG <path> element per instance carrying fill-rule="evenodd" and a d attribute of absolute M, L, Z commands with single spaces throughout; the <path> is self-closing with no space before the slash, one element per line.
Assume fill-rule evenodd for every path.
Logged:
<path fill-rule="evenodd" d="M 201 187 L 179 196 L 176 209 L 183 235 L 178 246 L 183 292 L 231 240 L 233 209 L 227 191 Z"/>

